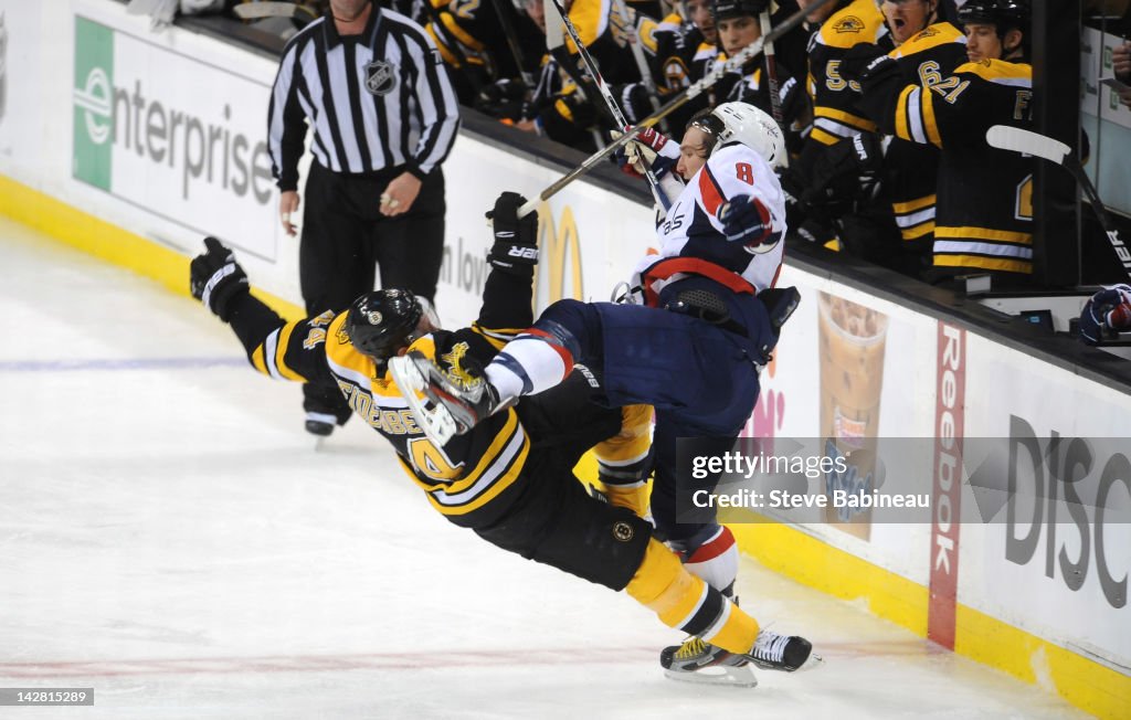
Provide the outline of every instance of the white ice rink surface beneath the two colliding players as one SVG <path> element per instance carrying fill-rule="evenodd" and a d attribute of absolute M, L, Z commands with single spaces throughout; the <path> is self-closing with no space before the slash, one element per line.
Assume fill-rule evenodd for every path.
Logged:
<path fill-rule="evenodd" d="M 450 526 L 356 418 L 316 452 L 188 296 L 0 219 L 0 687 L 95 689 L 0 718 L 1080 714 L 750 559 L 824 665 L 665 679 L 677 632 Z"/>

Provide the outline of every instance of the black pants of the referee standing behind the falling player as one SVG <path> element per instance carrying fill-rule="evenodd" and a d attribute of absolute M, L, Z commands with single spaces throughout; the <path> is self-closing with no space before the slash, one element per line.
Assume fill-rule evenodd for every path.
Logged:
<path fill-rule="evenodd" d="M 375 269 L 381 287 L 409 289 L 433 300 L 443 261 L 443 172 L 437 167 L 421 184 L 404 215 L 380 214 L 381 192 L 404 172 L 339 174 L 311 163 L 303 198 L 299 279 L 307 314 L 346 310 L 373 289 Z M 308 413 L 334 415 L 338 424 L 351 410 L 337 385 L 303 385 Z"/>

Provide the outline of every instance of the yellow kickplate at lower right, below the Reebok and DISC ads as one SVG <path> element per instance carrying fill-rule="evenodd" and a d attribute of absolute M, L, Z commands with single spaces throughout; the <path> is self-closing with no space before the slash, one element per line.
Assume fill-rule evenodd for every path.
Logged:
<path fill-rule="evenodd" d="M 927 588 L 776 522 L 727 524 L 740 550 L 802 584 L 869 610 L 926 636 Z M 1041 683 L 1069 703 L 1099 718 L 1125 718 L 1131 676 L 958 604 L 955 652 L 1027 683 Z M 1038 677 L 1034 666 L 1041 668 Z M 1048 687 L 1051 685 L 1051 687 Z"/>

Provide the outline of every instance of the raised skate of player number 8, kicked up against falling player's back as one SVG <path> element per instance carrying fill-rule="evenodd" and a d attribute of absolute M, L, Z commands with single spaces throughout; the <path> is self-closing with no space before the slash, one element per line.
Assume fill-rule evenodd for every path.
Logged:
<path fill-rule="evenodd" d="M 412 408 L 416 424 L 438 448 L 468 432 L 501 406 L 486 378 L 455 378 L 416 350 L 389 358 L 389 374 Z"/>

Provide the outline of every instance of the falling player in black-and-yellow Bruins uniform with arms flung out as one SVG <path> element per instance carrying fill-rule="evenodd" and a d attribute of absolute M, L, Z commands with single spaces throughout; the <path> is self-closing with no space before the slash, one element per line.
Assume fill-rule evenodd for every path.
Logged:
<path fill-rule="evenodd" d="M 478 319 L 468 328 L 438 329 L 412 294 L 392 289 L 366 293 L 343 313 L 284 322 L 251 296 L 247 275 L 215 238 L 206 240 L 207 252 L 192 261 L 192 294 L 231 323 L 260 372 L 336 382 L 353 410 L 394 445 L 408 477 L 451 522 L 528 559 L 625 590 L 665 624 L 723 648 L 726 652 L 713 656 L 711 663 L 731 661 L 724 678 L 741 682 L 735 674 L 742 668 L 735 666 L 742 662 L 786 671 L 800 668 L 810 657 L 808 641 L 760 628 L 753 617 L 688 572 L 651 537 L 651 526 L 637 512 L 589 496 L 573 477 L 578 456 L 596 442 L 627 434 L 633 444 L 647 437 L 638 432 L 638 414 L 590 404 L 584 378 L 524 399 L 442 446 L 416 425 L 404 391 L 388 373 L 391 357 L 411 347 L 444 372 L 467 375 L 533 322 L 537 249 L 523 238 L 537 236 L 537 220 L 518 218 L 523 202 L 515 193 L 503 193 L 495 202 L 492 270 Z M 625 424 L 624 417 L 633 422 Z M 701 673 L 703 665 L 662 660 L 680 679 L 713 677 Z M 745 677 L 750 684 L 749 670 Z"/>

